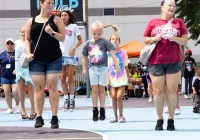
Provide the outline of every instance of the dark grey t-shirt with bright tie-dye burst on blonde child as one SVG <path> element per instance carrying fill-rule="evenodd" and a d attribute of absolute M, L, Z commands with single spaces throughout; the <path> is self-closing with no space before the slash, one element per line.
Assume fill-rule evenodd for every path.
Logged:
<path fill-rule="evenodd" d="M 114 50 L 113 44 L 104 38 L 88 40 L 83 47 L 83 56 L 88 56 L 89 66 L 108 66 L 107 52 Z"/>

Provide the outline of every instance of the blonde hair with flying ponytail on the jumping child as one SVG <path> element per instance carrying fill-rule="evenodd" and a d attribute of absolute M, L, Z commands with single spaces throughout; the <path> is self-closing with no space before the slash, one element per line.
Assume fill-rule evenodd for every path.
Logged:
<path fill-rule="evenodd" d="M 93 29 L 101 29 L 103 31 L 103 28 L 107 27 L 112 27 L 114 29 L 114 32 L 118 32 L 119 28 L 116 25 L 112 24 L 106 24 L 103 25 L 100 21 L 95 21 L 91 24 L 90 30 L 92 31 Z"/>

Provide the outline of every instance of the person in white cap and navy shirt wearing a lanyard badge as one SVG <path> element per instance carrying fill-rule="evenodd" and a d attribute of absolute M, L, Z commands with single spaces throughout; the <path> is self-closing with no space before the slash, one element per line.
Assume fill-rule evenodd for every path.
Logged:
<path fill-rule="evenodd" d="M 3 85 L 3 90 L 5 93 L 5 100 L 8 106 L 6 114 L 20 113 L 21 109 L 19 106 L 19 94 L 18 87 L 15 82 L 15 49 L 14 40 L 8 38 L 6 40 L 6 50 L 0 54 L 0 64 L 1 64 L 1 82 Z M 15 110 L 12 108 L 12 94 L 14 95 L 16 107 Z"/>

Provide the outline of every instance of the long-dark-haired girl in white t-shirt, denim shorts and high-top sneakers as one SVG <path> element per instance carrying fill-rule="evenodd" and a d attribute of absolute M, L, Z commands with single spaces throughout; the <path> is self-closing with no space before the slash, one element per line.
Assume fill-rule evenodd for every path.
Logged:
<path fill-rule="evenodd" d="M 64 93 L 64 111 L 73 111 L 75 105 L 74 99 L 74 67 L 77 66 L 77 60 L 75 56 L 76 49 L 81 45 L 82 38 L 77 21 L 72 11 L 61 11 L 61 19 L 65 24 L 65 41 L 60 42 L 60 48 L 62 51 L 62 74 L 61 74 L 61 86 Z M 77 40 L 77 43 L 76 43 Z M 68 72 L 69 93 L 68 85 L 66 84 L 66 69 Z"/>

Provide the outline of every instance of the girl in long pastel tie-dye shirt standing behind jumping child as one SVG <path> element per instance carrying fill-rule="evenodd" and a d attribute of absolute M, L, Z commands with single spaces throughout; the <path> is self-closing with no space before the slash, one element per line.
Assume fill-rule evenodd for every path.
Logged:
<path fill-rule="evenodd" d="M 123 92 L 125 86 L 129 85 L 129 71 L 128 71 L 128 56 L 125 50 L 119 48 L 120 37 L 116 34 L 112 35 L 110 38 L 111 43 L 115 46 L 115 56 L 119 62 L 120 73 L 116 73 L 115 65 L 111 59 L 110 54 L 108 54 L 108 79 L 107 85 L 110 85 L 110 90 L 112 94 L 112 106 L 114 111 L 114 117 L 110 119 L 110 123 L 126 122 L 123 116 Z M 119 109 L 119 118 L 117 115 L 117 107 Z"/>

